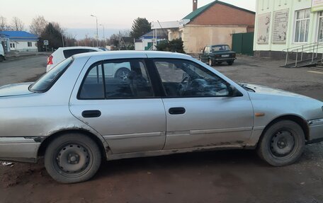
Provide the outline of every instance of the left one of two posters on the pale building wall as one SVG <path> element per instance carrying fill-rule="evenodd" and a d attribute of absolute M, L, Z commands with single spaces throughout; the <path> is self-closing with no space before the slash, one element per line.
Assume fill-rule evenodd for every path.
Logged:
<path fill-rule="evenodd" d="M 263 13 L 258 16 L 257 43 L 268 45 L 269 30 L 271 29 L 271 13 Z"/>

